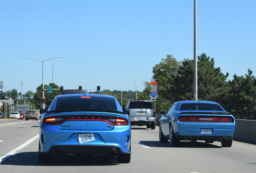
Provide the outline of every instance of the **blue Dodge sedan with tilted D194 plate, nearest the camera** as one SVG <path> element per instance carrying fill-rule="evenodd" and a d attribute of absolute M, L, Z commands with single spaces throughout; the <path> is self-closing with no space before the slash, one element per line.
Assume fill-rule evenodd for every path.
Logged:
<path fill-rule="evenodd" d="M 119 163 L 130 162 L 131 125 L 115 97 L 58 95 L 40 114 L 39 162 L 59 154 L 116 155 Z"/>

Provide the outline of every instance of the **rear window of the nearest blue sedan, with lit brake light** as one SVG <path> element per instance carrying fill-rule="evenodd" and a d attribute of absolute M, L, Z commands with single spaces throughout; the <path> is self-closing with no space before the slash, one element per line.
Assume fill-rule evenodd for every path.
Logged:
<path fill-rule="evenodd" d="M 117 110 L 113 98 L 107 97 L 59 97 L 55 110 Z"/>

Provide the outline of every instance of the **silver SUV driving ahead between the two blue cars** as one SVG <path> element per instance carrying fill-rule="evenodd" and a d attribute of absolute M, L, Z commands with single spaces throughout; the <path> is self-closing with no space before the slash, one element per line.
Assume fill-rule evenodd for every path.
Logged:
<path fill-rule="evenodd" d="M 124 112 L 129 115 L 131 125 L 147 125 L 147 128 L 155 129 L 156 112 L 151 101 L 128 101 Z"/>

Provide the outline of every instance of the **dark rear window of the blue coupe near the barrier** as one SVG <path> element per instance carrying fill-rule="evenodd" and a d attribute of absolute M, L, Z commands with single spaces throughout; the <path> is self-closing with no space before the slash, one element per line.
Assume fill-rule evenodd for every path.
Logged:
<path fill-rule="evenodd" d="M 211 103 L 183 103 L 180 111 L 224 111 L 219 105 Z"/>

